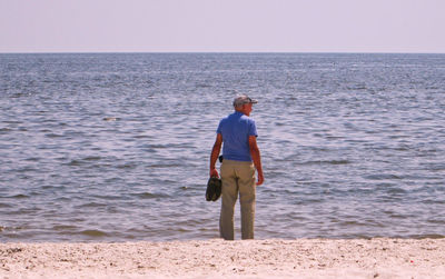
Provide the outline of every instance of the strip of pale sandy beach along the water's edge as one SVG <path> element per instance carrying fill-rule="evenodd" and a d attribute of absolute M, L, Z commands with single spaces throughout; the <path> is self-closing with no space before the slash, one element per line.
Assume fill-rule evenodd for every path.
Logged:
<path fill-rule="evenodd" d="M 1 278 L 445 278 L 445 239 L 2 243 Z"/>

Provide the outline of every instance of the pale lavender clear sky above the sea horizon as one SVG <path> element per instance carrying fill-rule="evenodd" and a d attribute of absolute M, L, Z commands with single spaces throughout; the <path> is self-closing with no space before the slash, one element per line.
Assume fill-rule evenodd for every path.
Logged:
<path fill-rule="evenodd" d="M 0 52 L 445 53 L 445 0 L 0 0 Z"/>

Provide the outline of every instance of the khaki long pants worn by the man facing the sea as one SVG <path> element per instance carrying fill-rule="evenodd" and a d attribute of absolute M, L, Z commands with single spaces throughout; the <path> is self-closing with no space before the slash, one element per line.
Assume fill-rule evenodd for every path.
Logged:
<path fill-rule="evenodd" d="M 255 167 L 253 162 L 224 160 L 221 165 L 222 201 L 219 233 L 234 240 L 234 211 L 239 192 L 241 205 L 241 238 L 254 239 L 255 219 Z"/>

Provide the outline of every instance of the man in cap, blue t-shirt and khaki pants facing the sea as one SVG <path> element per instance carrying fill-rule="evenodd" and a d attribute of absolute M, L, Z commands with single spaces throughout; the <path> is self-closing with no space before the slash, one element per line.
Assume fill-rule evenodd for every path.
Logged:
<path fill-rule="evenodd" d="M 219 233 L 225 240 L 235 239 L 234 210 L 238 193 L 241 205 L 241 238 L 254 239 L 256 186 L 264 182 L 261 159 L 257 146 L 257 128 L 255 120 L 249 118 L 254 103 L 257 101 L 245 94 L 234 99 L 235 112 L 219 122 L 211 150 L 210 177 L 219 177 L 215 163 L 224 142 L 224 159 L 220 169 L 222 201 Z M 258 171 L 256 183 L 255 169 Z"/>

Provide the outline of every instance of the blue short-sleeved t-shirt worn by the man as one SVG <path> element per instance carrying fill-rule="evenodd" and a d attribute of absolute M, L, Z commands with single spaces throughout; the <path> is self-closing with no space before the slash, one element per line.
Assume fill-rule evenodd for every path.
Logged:
<path fill-rule="evenodd" d="M 217 133 L 222 136 L 222 157 L 234 161 L 251 161 L 249 136 L 258 137 L 255 120 L 241 112 L 225 117 L 219 122 Z"/>

